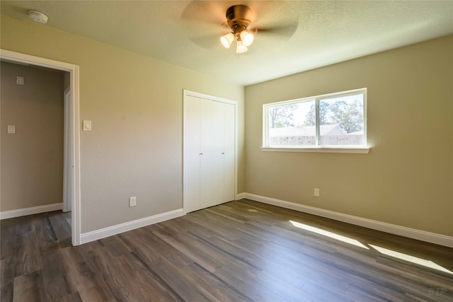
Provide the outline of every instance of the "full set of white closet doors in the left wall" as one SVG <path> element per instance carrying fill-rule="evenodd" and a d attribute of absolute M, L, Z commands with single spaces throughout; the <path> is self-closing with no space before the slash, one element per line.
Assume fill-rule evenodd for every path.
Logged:
<path fill-rule="evenodd" d="M 185 92 L 183 158 L 186 212 L 234 200 L 236 103 Z"/>

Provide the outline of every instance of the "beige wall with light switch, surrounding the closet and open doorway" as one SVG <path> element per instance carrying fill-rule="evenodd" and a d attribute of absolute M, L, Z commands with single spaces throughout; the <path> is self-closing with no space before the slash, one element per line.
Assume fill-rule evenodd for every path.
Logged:
<path fill-rule="evenodd" d="M 82 233 L 182 207 L 183 89 L 239 101 L 243 192 L 242 86 L 3 15 L 1 48 L 80 66 Z"/>

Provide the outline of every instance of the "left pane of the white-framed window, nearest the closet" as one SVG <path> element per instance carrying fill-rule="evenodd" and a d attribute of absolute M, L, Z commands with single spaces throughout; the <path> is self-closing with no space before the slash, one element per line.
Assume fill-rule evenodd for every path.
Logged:
<path fill-rule="evenodd" d="M 268 108 L 268 146 L 315 146 L 314 100 Z"/>

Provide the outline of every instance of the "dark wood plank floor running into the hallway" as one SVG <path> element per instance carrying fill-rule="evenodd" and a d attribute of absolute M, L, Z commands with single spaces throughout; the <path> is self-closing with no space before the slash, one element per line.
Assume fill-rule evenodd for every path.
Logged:
<path fill-rule="evenodd" d="M 453 301 L 453 274 L 371 245 L 453 272 L 451 248 L 246 199 L 77 247 L 69 236 L 61 212 L 1 221 L 1 301 Z"/>

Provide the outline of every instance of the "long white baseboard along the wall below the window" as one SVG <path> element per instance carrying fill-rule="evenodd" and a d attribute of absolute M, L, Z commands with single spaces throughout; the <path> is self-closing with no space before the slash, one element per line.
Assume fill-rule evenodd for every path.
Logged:
<path fill-rule="evenodd" d="M 328 211 L 325 209 L 319 209 L 315 207 L 305 206 L 303 204 L 296 204 L 294 202 L 285 202 L 284 200 L 264 197 L 256 194 L 241 193 L 243 198 L 251 199 L 256 202 L 263 202 L 265 204 L 272 204 L 277 207 L 282 207 L 286 209 L 293 209 L 296 211 L 302 211 L 308 214 L 314 214 L 321 217 L 326 217 L 329 219 L 335 219 L 338 221 L 343 221 L 347 223 L 354 224 L 356 226 L 364 226 L 365 228 L 372 228 L 377 231 L 383 231 L 386 233 L 392 233 L 399 236 L 404 236 L 408 238 L 413 238 L 417 240 L 426 241 L 429 243 L 435 243 L 438 245 L 445 245 L 449 248 L 453 248 L 453 237 L 445 236 L 437 233 L 430 233 L 426 231 L 416 230 L 414 228 L 406 228 L 405 226 L 396 226 L 394 224 L 385 223 L 381 221 L 375 221 L 371 219 L 365 219 L 357 216 L 352 216 L 348 214 L 342 214 L 335 211 Z"/>

